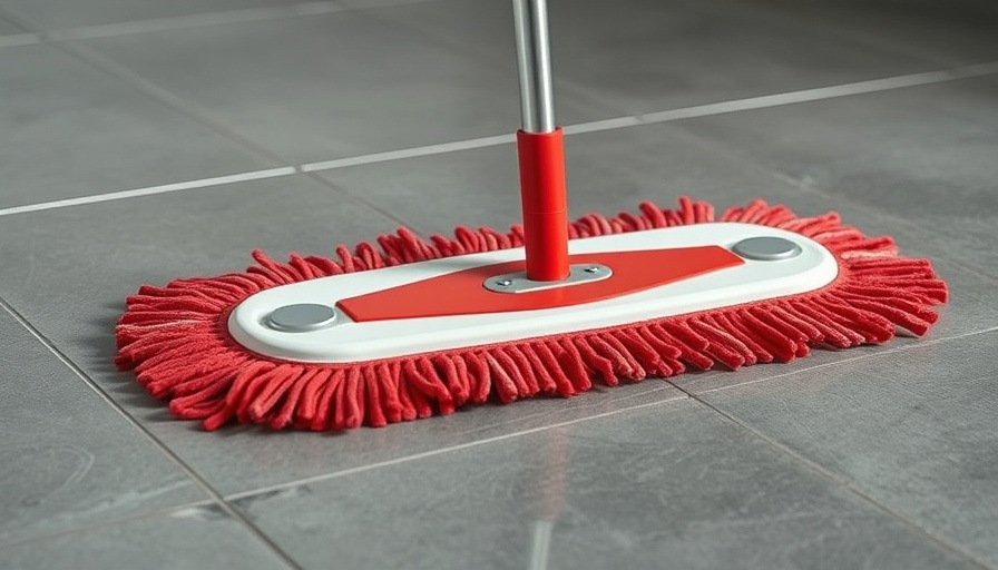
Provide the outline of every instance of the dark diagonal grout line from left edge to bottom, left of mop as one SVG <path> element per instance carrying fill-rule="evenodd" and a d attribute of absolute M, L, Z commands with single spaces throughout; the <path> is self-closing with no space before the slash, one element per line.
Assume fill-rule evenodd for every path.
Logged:
<path fill-rule="evenodd" d="M 74 374 L 79 377 L 84 384 L 90 387 L 106 404 L 108 404 L 112 410 L 115 410 L 118 415 L 120 415 L 127 423 L 129 423 L 134 429 L 136 429 L 139 433 L 146 436 L 146 439 L 151 443 L 155 448 L 157 448 L 160 453 L 167 456 L 170 461 L 176 464 L 180 471 L 187 475 L 187 478 L 197 485 L 208 498 L 218 507 L 225 511 L 226 514 L 232 517 L 236 522 L 238 522 L 243 528 L 245 528 L 256 540 L 258 540 L 265 548 L 267 548 L 274 556 L 281 559 L 287 567 L 293 568 L 295 570 L 303 570 L 301 564 L 299 564 L 287 552 L 284 551 L 270 535 L 267 535 L 263 530 L 261 530 L 256 524 L 253 523 L 242 511 L 236 509 L 234 505 L 229 504 L 225 498 L 219 493 L 207 480 L 205 480 L 197 471 L 195 471 L 192 466 L 187 465 L 179 455 L 177 455 L 174 450 L 172 450 L 165 442 L 159 440 L 151 431 L 149 431 L 141 422 L 139 422 L 135 416 L 129 414 L 117 401 L 115 401 L 102 387 L 100 387 L 97 382 L 94 381 L 81 367 L 79 367 L 72 360 L 69 358 L 66 354 L 62 353 L 58 347 L 56 347 L 55 343 L 52 343 L 48 337 L 46 337 L 41 332 L 35 327 L 31 323 L 28 322 L 17 309 L 13 308 L 6 299 L 0 297 L 0 308 L 6 311 L 11 317 L 14 318 L 21 326 L 23 326 L 38 342 L 40 342 L 46 348 L 51 352 L 56 358 L 58 358 L 62 364 L 65 364 Z"/>

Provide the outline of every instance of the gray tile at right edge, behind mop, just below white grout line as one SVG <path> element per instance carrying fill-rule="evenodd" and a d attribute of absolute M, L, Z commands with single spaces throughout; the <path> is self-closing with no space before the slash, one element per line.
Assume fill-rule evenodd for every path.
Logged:
<path fill-rule="evenodd" d="M 679 125 L 998 276 L 996 96 L 998 80 L 982 78 Z"/>

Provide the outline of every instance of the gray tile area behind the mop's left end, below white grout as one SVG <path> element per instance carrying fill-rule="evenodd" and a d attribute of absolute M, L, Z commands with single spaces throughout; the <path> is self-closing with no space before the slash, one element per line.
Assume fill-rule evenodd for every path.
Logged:
<path fill-rule="evenodd" d="M 256 248 L 330 255 L 395 225 L 306 176 L 13 215 L 0 224 L 0 294 L 82 351 L 75 361 L 108 368 L 114 324 L 141 284 L 243 271 Z"/>

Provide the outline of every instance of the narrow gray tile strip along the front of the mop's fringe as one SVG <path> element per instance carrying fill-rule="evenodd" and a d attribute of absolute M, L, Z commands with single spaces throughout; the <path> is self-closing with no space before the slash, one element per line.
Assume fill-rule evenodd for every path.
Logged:
<path fill-rule="evenodd" d="M 595 384 L 590 392 L 570 399 L 535 397 L 508 405 L 467 406 L 453 415 L 341 434 L 272 433 L 255 428 L 202 433 L 192 425 L 166 421 L 162 414 L 155 423 L 150 417 L 150 429 L 221 492 L 233 498 L 288 482 L 366 471 L 412 456 L 437 456 L 452 449 L 489 444 L 591 416 L 686 397 L 656 379 L 640 384 L 624 382 L 614 389 L 600 382 Z M 237 451 L 219 454 L 219 441 L 226 449 Z"/>

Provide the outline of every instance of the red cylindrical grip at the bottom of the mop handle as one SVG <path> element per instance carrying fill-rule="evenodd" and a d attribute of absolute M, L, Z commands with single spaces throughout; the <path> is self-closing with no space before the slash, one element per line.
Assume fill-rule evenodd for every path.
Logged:
<path fill-rule="evenodd" d="M 527 278 L 568 277 L 568 194 L 561 128 L 517 131 Z"/>

